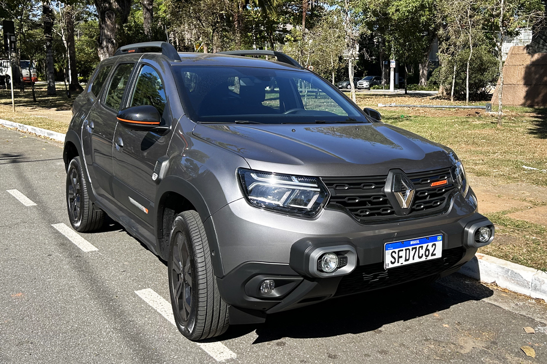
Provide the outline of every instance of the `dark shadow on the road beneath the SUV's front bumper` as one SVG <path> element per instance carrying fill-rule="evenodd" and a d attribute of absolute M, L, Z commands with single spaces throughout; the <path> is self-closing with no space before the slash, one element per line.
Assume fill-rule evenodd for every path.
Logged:
<path fill-rule="evenodd" d="M 462 285 L 467 293 L 452 288 Z M 257 344 L 284 337 L 322 338 L 374 332 L 393 322 L 412 320 L 492 295 L 488 287 L 456 274 L 430 285 L 390 287 L 272 314 L 261 325 L 231 326 L 221 338 L 255 331 L 258 338 L 253 344 Z"/>

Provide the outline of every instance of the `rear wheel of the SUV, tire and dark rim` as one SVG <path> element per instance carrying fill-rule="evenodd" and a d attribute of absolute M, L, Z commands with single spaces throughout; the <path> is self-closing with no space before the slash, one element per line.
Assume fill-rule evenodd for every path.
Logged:
<path fill-rule="evenodd" d="M 75 231 L 90 232 L 103 226 L 106 214 L 89 199 L 80 157 L 73 158 L 68 165 L 66 200 L 68 218 Z"/>

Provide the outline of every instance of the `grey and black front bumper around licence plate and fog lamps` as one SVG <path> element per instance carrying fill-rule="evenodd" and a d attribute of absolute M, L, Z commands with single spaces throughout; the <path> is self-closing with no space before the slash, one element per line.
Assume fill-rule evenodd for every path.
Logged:
<path fill-rule="evenodd" d="M 476 253 L 478 245 L 472 241 L 475 230 L 491 225 L 460 194 L 443 215 L 388 224 L 362 225 L 350 215 L 330 209 L 315 219 L 298 219 L 253 208 L 244 199 L 220 209 L 212 221 L 222 226 L 216 231 L 224 271 L 228 272 L 217 277 L 220 295 L 232 307 L 256 313 L 280 312 L 456 272 Z M 444 235 L 440 259 L 384 269 L 386 243 L 438 233 Z M 353 252 L 356 259 L 353 266 L 348 263 L 351 269 L 341 275 L 314 274 L 317 254 L 313 253 L 325 247 L 334 247 L 348 257 Z M 268 295 L 258 288 L 265 279 L 276 283 Z"/>

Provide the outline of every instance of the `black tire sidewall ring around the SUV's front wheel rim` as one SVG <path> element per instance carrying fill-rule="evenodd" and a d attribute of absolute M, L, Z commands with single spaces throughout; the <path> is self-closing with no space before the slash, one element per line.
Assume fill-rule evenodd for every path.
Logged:
<path fill-rule="evenodd" d="M 187 244 L 188 254 L 190 255 L 190 265 L 192 269 L 192 295 L 191 295 L 191 309 L 188 318 L 188 322 L 184 322 L 181 317 L 181 313 L 178 312 L 176 307 L 177 298 L 173 289 L 173 279 L 171 277 L 171 270 L 173 269 L 173 251 L 176 249 L 176 239 L 178 234 L 181 234 L 184 238 L 184 244 Z M 171 230 L 171 237 L 169 243 L 169 257 L 167 261 L 168 277 L 169 277 L 169 292 L 171 296 L 171 306 L 173 307 L 174 322 L 176 323 L 178 330 L 182 332 L 185 337 L 192 337 L 193 330 L 196 324 L 196 308 L 197 308 L 197 282 L 196 282 L 196 265 L 195 265 L 195 252 L 194 246 L 191 243 L 190 234 L 188 233 L 188 226 L 186 221 L 181 216 L 177 216 L 173 221 L 173 228 Z"/>

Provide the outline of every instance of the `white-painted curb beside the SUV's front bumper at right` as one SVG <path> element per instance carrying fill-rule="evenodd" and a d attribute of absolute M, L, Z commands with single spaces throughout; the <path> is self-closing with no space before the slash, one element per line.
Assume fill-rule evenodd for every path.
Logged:
<path fill-rule="evenodd" d="M 547 273 L 537 269 L 476 253 L 459 273 L 547 302 Z"/>

